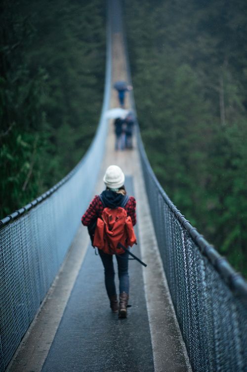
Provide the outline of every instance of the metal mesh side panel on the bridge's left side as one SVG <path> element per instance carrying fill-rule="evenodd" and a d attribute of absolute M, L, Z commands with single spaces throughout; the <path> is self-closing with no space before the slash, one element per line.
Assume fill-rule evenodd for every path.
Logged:
<path fill-rule="evenodd" d="M 108 43 L 101 120 L 88 152 L 58 185 L 0 221 L 0 227 L 5 225 L 0 229 L 0 371 L 34 319 L 91 199 L 107 135 L 104 111 L 111 89 L 110 47 Z"/>

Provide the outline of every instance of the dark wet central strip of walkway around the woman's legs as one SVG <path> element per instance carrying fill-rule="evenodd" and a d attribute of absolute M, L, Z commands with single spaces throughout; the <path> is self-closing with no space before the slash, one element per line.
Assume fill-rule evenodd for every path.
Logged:
<path fill-rule="evenodd" d="M 133 195 L 131 177 L 125 185 Z M 133 253 L 140 257 L 138 245 Z M 42 372 L 154 371 L 142 267 L 136 261 L 129 261 L 129 275 L 132 306 L 127 319 L 118 319 L 110 310 L 100 257 L 88 247 Z"/>

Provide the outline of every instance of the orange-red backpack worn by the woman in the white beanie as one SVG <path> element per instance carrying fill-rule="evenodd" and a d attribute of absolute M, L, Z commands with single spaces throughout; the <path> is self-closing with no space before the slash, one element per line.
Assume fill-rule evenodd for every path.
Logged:
<path fill-rule="evenodd" d="M 124 249 L 118 247 L 119 243 L 126 248 L 136 244 L 131 217 L 127 216 L 122 207 L 115 209 L 106 207 L 101 218 L 97 219 L 93 246 L 109 255 L 121 255 Z"/>

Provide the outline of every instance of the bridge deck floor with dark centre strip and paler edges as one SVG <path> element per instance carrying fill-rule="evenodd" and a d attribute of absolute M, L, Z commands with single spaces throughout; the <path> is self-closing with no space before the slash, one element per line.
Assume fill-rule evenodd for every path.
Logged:
<path fill-rule="evenodd" d="M 112 34 L 112 62 L 112 81 L 127 80 L 122 34 L 117 26 Z M 112 91 L 111 107 L 116 106 L 117 95 Z M 130 107 L 128 97 L 126 106 Z M 148 266 L 129 263 L 132 307 L 128 318 L 118 319 L 111 313 L 101 260 L 90 247 L 86 228 L 80 227 L 7 371 L 190 370 L 157 250 L 138 152 L 135 148 L 116 152 L 114 140 L 109 122 L 105 157 L 92 196 L 104 188 L 106 167 L 118 164 L 126 175 L 128 194 L 137 200 L 139 244 L 133 252 Z"/>

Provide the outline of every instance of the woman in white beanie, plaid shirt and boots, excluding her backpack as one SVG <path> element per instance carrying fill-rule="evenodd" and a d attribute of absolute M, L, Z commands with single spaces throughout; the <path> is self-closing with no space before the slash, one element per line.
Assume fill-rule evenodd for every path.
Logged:
<path fill-rule="evenodd" d="M 82 216 L 84 226 L 95 225 L 98 217 L 102 216 L 104 208 L 116 209 L 122 207 L 130 216 L 133 226 L 136 224 L 136 201 L 133 196 L 128 197 L 124 187 L 124 173 L 117 165 L 110 165 L 104 175 L 103 181 L 106 189 L 96 195 L 91 201 L 88 209 Z M 126 318 L 127 304 L 129 298 L 129 275 L 128 275 L 128 253 L 116 255 L 119 275 L 120 302 L 118 303 L 115 286 L 115 271 L 113 266 L 113 255 L 107 254 L 99 249 L 105 272 L 105 286 L 110 300 L 110 307 L 114 313 L 119 312 L 119 318 Z"/>

